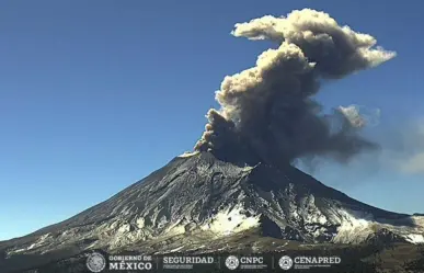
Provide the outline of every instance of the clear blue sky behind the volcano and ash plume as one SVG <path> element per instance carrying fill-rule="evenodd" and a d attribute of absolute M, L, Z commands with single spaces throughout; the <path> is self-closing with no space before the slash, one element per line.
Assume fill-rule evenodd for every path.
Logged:
<path fill-rule="evenodd" d="M 328 107 L 379 107 L 369 134 L 380 156 L 325 163 L 314 175 L 371 205 L 424 213 L 421 1 L 8 0 L 0 2 L 0 240 L 64 220 L 191 149 L 224 77 L 270 46 L 232 37 L 234 23 L 302 8 L 398 53 L 318 98 Z M 404 167 L 411 160 L 417 168 Z"/>

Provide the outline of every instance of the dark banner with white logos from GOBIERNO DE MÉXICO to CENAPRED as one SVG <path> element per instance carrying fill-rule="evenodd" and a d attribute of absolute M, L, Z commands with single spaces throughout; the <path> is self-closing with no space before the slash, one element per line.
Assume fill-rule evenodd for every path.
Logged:
<path fill-rule="evenodd" d="M 91 257 L 98 255 L 93 252 Z M 110 255 L 104 261 L 87 260 L 89 272 L 340 272 L 346 266 L 340 257 L 306 257 L 295 253 L 267 254 L 164 254 Z M 104 265 L 102 265 L 104 262 Z M 103 268 L 102 268 L 103 266 Z"/>

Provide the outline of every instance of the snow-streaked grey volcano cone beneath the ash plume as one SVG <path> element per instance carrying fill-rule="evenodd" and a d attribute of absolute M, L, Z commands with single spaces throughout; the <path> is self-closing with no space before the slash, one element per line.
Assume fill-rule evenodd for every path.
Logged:
<path fill-rule="evenodd" d="M 150 254 L 355 249 L 375 262 L 375 249 L 363 248 L 386 251 L 381 246 L 390 244 L 409 249 L 416 262 L 423 224 L 423 216 L 366 205 L 291 166 L 193 152 L 62 223 L 0 242 L 0 269 L 59 266 L 93 249 Z M 398 262 L 405 265 L 408 259 Z"/>

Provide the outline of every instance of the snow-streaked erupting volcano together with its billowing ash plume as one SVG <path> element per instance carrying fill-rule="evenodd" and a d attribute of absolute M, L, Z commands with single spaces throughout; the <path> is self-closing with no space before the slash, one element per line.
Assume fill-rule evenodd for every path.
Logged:
<path fill-rule="evenodd" d="M 423 216 L 366 205 L 293 167 L 378 149 L 360 136 L 367 123 L 358 111 L 323 114 L 313 95 L 323 80 L 396 54 L 309 9 L 237 24 L 232 34 L 278 47 L 224 80 L 216 93 L 221 109 L 208 112 L 194 151 L 62 223 L 0 242 L 0 272 L 68 272 L 72 259 L 93 249 L 216 253 L 424 242 Z"/>

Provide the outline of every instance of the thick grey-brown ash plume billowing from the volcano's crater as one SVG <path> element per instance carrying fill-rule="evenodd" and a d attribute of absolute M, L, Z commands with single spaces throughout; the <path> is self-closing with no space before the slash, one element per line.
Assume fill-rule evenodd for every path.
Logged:
<path fill-rule="evenodd" d="M 208 111 L 196 150 L 229 152 L 239 146 L 260 160 L 280 164 L 316 156 L 346 161 L 378 147 L 359 136 L 366 120 L 357 111 L 335 107 L 323 114 L 313 95 L 323 80 L 376 67 L 394 52 L 375 47 L 375 37 L 310 9 L 239 23 L 231 34 L 279 46 L 262 53 L 254 67 L 224 79 L 216 92 L 220 110 Z"/>

